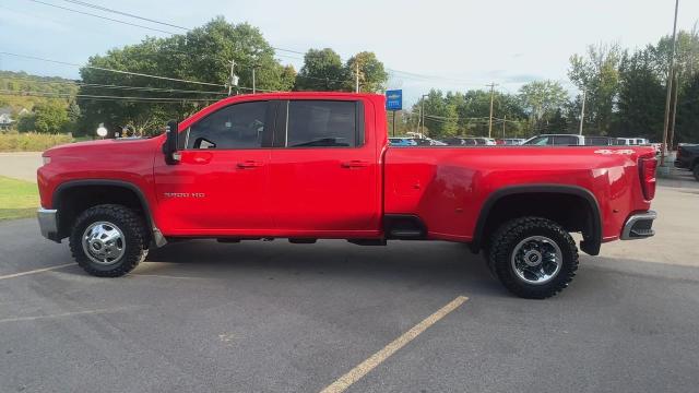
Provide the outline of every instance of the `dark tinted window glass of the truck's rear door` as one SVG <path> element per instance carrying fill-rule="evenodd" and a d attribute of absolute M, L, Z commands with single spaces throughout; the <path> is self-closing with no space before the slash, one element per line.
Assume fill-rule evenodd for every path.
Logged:
<path fill-rule="evenodd" d="M 362 145 L 359 103 L 292 100 L 286 120 L 287 147 L 354 147 Z"/>

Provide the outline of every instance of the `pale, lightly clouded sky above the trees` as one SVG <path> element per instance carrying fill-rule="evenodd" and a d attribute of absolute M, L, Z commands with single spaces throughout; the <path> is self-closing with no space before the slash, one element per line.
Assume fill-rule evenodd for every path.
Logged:
<path fill-rule="evenodd" d="M 674 0 L 265 0 L 106 1 L 92 4 L 196 27 L 216 15 L 260 28 L 279 48 L 306 51 L 330 47 L 343 60 L 370 50 L 392 70 L 389 88 L 407 103 L 430 88 L 461 91 L 497 83 L 514 93 L 534 80 L 559 81 L 571 94 L 567 71 L 572 53 L 590 44 L 640 48 L 672 33 Z M 177 28 L 105 13 L 64 0 L 0 0 L 0 51 L 71 63 L 137 44 L 146 35 L 134 26 L 56 9 L 71 8 L 179 33 Z M 699 1 L 680 0 L 678 29 L 699 20 Z M 300 69 L 300 55 L 277 52 Z M 0 55 L 0 69 L 78 79 L 78 68 Z M 419 76 L 417 76 L 419 75 Z"/>

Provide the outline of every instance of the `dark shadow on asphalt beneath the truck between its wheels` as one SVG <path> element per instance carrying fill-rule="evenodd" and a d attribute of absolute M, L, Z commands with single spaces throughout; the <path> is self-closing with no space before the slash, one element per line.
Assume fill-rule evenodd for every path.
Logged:
<path fill-rule="evenodd" d="M 312 277 L 342 285 L 435 286 L 458 293 L 510 295 L 490 275 L 483 255 L 462 243 L 392 241 L 386 247 L 360 247 L 344 240 L 291 245 L 286 240 L 217 243 L 191 240 L 152 250 L 144 274 L 198 278 L 296 279 Z"/>

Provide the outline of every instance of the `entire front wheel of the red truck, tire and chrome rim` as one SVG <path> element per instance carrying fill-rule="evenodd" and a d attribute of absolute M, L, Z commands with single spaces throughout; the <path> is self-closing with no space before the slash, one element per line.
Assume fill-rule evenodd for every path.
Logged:
<path fill-rule="evenodd" d="M 104 204 L 84 211 L 73 225 L 70 250 L 78 264 L 99 277 L 131 272 L 147 254 L 147 230 L 132 210 Z"/>

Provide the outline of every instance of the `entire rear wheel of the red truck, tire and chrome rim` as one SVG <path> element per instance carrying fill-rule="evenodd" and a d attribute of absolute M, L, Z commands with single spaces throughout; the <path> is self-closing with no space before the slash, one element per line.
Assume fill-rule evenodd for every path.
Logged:
<path fill-rule="evenodd" d="M 578 248 L 560 225 L 522 217 L 498 228 L 490 239 L 489 264 L 502 285 L 528 299 L 552 297 L 578 270 Z"/>

